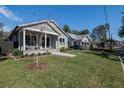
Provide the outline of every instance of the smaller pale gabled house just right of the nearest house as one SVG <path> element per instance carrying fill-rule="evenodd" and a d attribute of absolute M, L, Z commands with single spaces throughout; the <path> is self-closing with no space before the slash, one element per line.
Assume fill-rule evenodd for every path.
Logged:
<path fill-rule="evenodd" d="M 76 35 L 72 33 L 67 33 L 70 36 L 69 40 L 69 46 L 81 46 L 83 49 L 89 49 L 90 48 L 90 39 L 87 34 L 83 35 Z"/>

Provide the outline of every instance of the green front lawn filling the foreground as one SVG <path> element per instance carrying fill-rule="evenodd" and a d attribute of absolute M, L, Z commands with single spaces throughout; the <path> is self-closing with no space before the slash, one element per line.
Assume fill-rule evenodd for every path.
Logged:
<path fill-rule="evenodd" d="M 72 50 L 74 58 L 41 56 L 46 70 L 28 70 L 28 60 L 0 61 L 0 87 L 124 87 L 124 72 L 118 60 Z M 114 58 L 114 56 L 113 56 Z"/>

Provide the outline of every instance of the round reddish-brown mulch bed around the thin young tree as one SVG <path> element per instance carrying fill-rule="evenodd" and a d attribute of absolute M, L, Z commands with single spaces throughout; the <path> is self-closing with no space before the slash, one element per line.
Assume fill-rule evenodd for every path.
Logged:
<path fill-rule="evenodd" d="M 26 68 L 28 68 L 29 70 L 36 70 L 36 69 L 47 69 L 48 68 L 48 64 L 47 63 L 32 63 L 32 64 L 28 64 L 26 66 Z"/>

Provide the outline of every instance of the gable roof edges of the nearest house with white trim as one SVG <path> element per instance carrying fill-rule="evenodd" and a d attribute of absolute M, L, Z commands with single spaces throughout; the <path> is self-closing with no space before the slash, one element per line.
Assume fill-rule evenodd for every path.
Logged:
<path fill-rule="evenodd" d="M 57 24 L 54 20 L 50 20 L 50 21 L 49 21 L 49 20 L 43 20 L 43 21 L 31 22 L 31 23 L 26 23 L 26 24 L 22 24 L 22 25 L 16 26 L 16 27 L 12 30 L 12 32 L 11 32 L 9 38 L 11 38 L 11 37 L 12 37 L 17 31 L 19 31 L 21 28 L 31 27 L 31 26 L 35 26 L 35 25 L 38 25 L 38 24 L 44 24 L 44 23 L 46 23 L 48 26 L 50 26 L 54 31 L 56 31 L 56 33 L 60 34 L 60 33 L 55 29 L 55 27 L 51 24 L 51 23 L 53 23 L 65 36 L 68 37 L 68 34 L 66 34 L 66 33 L 62 30 L 62 28 L 61 28 L 60 26 L 58 26 L 58 24 Z"/>

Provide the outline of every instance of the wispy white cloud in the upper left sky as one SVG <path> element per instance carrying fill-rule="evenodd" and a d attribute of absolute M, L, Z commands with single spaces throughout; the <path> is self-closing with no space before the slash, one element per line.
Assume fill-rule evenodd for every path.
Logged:
<path fill-rule="evenodd" d="M 5 6 L 0 6 L 0 14 L 11 20 L 15 20 L 19 22 L 23 21 L 21 18 L 15 16 L 14 13 Z"/>

